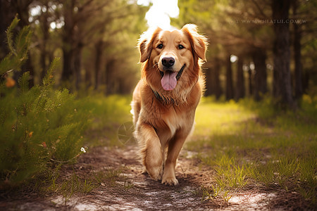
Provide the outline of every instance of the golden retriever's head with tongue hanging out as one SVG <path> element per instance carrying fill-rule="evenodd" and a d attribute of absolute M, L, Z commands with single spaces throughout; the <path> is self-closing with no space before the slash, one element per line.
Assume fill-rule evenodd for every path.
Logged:
<path fill-rule="evenodd" d="M 172 32 L 158 27 L 151 34 L 143 34 L 139 41 L 142 77 L 156 90 L 192 87 L 200 74 L 199 58 L 206 60 L 206 45 L 206 37 L 192 24 Z"/>

